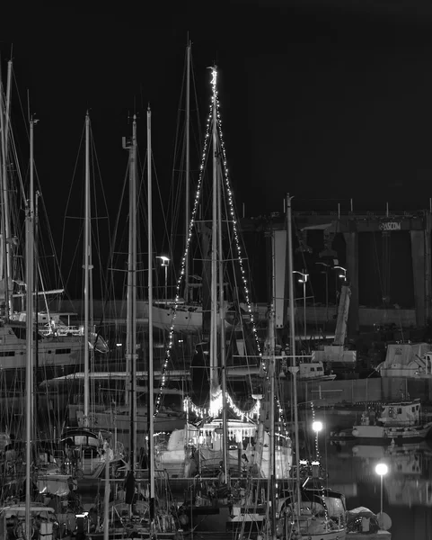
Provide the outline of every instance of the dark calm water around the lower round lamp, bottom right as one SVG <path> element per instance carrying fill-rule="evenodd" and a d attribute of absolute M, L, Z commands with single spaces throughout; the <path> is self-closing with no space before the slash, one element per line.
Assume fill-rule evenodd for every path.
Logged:
<path fill-rule="evenodd" d="M 392 518 L 392 540 L 432 540 L 432 446 L 359 445 L 357 441 L 322 442 L 329 485 L 345 493 L 348 509 L 380 510 L 380 479 L 375 465 L 384 462 L 384 512 Z"/>

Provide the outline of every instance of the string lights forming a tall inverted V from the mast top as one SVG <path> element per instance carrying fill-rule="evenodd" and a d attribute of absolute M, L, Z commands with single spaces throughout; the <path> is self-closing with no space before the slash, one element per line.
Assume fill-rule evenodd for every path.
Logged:
<path fill-rule="evenodd" d="M 191 213 L 191 218 L 190 218 L 190 225 L 189 225 L 189 229 L 188 229 L 188 236 L 186 238 L 186 247 L 185 247 L 185 250 L 184 250 L 184 253 L 183 253 L 183 257 L 181 258 L 181 272 L 180 272 L 180 276 L 179 276 L 179 278 L 177 280 L 177 284 L 176 284 L 176 293 L 175 293 L 174 305 L 173 305 L 173 308 L 172 308 L 172 324 L 171 324 L 171 327 L 170 327 L 167 348 L 165 350 L 165 358 L 164 358 L 163 367 L 162 367 L 162 377 L 161 377 L 161 383 L 160 383 L 160 387 L 159 387 L 159 393 L 158 393 L 156 403 L 155 403 L 155 406 L 154 406 L 154 416 L 156 416 L 159 413 L 159 410 L 160 410 L 160 407 L 161 407 L 163 389 L 164 389 L 165 384 L 166 384 L 166 373 L 167 373 L 168 365 L 169 365 L 170 359 L 171 359 L 171 351 L 172 351 L 174 328 L 175 328 L 175 318 L 176 318 L 176 315 L 177 315 L 177 307 L 178 307 L 179 301 L 180 301 L 181 284 L 182 284 L 182 281 L 183 281 L 184 275 L 185 275 L 186 260 L 187 260 L 187 257 L 189 256 L 189 252 L 190 252 L 190 243 L 191 243 L 191 239 L 192 239 L 192 232 L 193 232 L 193 229 L 194 229 L 195 220 L 196 220 L 197 213 L 198 213 L 198 203 L 199 203 L 199 199 L 200 199 L 200 195 L 201 195 L 201 191 L 202 191 L 203 177 L 204 177 L 204 174 L 205 174 L 207 151 L 208 151 L 208 147 L 209 147 L 209 141 L 211 140 L 210 134 L 211 134 L 211 130 L 212 130 L 212 117 L 213 117 L 213 111 L 214 111 L 214 103 L 216 103 L 217 131 L 218 131 L 218 137 L 219 137 L 219 144 L 220 144 L 221 150 L 222 150 L 224 179 L 225 179 L 226 190 L 227 190 L 227 193 L 228 193 L 229 211 L 231 213 L 231 218 L 232 218 L 232 222 L 233 222 L 236 254 L 237 254 L 237 257 L 238 257 L 238 260 L 239 260 L 240 270 L 241 270 L 241 273 L 242 273 L 242 283 L 243 283 L 243 287 L 244 287 L 246 305 L 247 305 L 249 315 L 250 315 L 252 331 L 253 331 L 253 335 L 255 337 L 255 341 L 257 343 L 258 353 L 259 353 L 259 356 L 261 358 L 261 368 L 263 369 L 264 373 L 266 373 L 266 366 L 264 365 L 263 360 L 262 360 L 262 352 L 261 352 L 261 349 L 260 349 L 260 341 L 259 341 L 259 338 L 258 338 L 258 331 L 257 331 L 256 325 L 255 325 L 255 320 L 253 318 L 253 313 L 252 313 L 252 310 L 251 310 L 251 300 L 250 300 L 250 293 L 249 293 L 248 283 L 247 283 L 244 267 L 243 267 L 243 264 L 242 264 L 242 248 L 241 248 L 241 245 L 240 245 L 240 238 L 239 238 L 239 235 L 238 235 L 237 224 L 236 224 L 236 220 L 235 220 L 233 192 L 231 190 L 231 185 L 230 185 L 229 176 L 228 176 L 228 167 L 227 167 L 226 152 L 225 152 L 225 142 L 224 142 L 224 137 L 223 137 L 223 133 L 222 133 L 222 122 L 221 122 L 221 115 L 220 115 L 220 106 L 219 106 L 219 99 L 218 99 L 218 95 L 217 95 L 217 70 L 216 70 L 216 67 L 212 68 L 211 86 L 212 86 L 212 96 L 211 96 L 211 99 L 210 99 L 209 112 L 207 114 L 206 135 L 205 135 L 205 139 L 204 139 L 204 147 L 203 147 L 202 154 L 201 154 L 201 163 L 200 163 L 200 166 L 199 166 L 198 185 L 197 185 L 197 190 L 195 192 L 195 198 L 194 198 L 194 202 L 193 202 L 193 208 L 192 208 L 192 213 Z"/>

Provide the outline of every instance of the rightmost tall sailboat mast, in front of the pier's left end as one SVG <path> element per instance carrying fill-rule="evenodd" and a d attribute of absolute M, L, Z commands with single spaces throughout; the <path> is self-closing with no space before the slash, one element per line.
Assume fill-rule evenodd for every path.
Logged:
<path fill-rule="evenodd" d="M 291 355 L 291 366 L 289 371 L 293 375 L 293 407 L 294 407 L 294 438 L 295 438 L 295 472 L 296 472 L 296 500 L 297 508 L 301 509 L 301 494 L 300 494 L 300 444 L 298 441 L 298 410 L 297 410 L 297 373 L 298 366 L 295 362 L 295 320 L 294 320 L 294 266 L 293 266 L 293 231 L 292 231 L 292 214 L 291 214 L 291 199 L 287 193 L 287 237 L 288 237 L 288 284 L 289 284 L 289 349 Z"/>

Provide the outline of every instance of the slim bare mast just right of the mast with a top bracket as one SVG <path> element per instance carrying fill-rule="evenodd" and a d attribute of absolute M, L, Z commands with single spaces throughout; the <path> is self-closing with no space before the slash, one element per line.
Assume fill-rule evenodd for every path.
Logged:
<path fill-rule="evenodd" d="M 147 219 L 148 219 L 148 462 L 150 477 L 150 527 L 154 526 L 154 362 L 153 362 L 153 205 L 152 112 L 147 109 Z"/>

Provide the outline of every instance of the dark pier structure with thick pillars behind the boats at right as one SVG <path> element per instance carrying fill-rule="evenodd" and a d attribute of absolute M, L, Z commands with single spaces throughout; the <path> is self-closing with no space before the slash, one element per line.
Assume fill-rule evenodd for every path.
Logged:
<path fill-rule="evenodd" d="M 432 212 L 417 211 L 293 211 L 293 220 L 297 230 L 300 251 L 311 251 L 307 245 L 307 233 L 322 230 L 322 260 L 338 259 L 333 247 L 337 234 L 345 239 L 345 266 L 351 287 L 348 329 L 350 334 L 359 330 L 359 293 L 358 293 L 358 237 L 366 232 L 383 235 L 384 255 L 390 238 L 402 231 L 410 233 L 410 257 L 412 265 L 416 325 L 423 327 L 432 315 L 431 312 L 431 231 Z M 286 273 L 287 260 L 287 221 L 283 214 L 275 212 L 269 217 L 242 219 L 243 231 L 264 231 L 272 235 L 272 257 L 274 267 Z M 277 299 L 276 320 L 278 326 L 287 313 L 287 278 L 275 276 Z M 283 302 L 282 302 L 283 299 Z"/>

